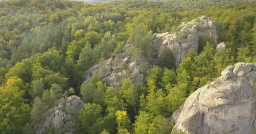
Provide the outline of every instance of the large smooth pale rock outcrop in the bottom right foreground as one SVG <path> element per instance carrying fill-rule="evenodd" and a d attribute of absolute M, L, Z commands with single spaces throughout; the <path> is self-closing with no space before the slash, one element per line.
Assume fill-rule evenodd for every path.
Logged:
<path fill-rule="evenodd" d="M 192 93 L 176 112 L 174 129 L 190 134 L 254 134 L 256 64 L 237 63 Z"/>

